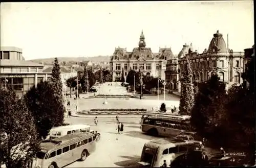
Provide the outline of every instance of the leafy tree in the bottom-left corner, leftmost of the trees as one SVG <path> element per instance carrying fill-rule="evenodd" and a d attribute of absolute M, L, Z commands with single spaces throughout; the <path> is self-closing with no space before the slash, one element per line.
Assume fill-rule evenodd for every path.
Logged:
<path fill-rule="evenodd" d="M 0 112 L 1 164 L 25 167 L 40 150 L 33 116 L 13 90 L 1 89 Z"/>

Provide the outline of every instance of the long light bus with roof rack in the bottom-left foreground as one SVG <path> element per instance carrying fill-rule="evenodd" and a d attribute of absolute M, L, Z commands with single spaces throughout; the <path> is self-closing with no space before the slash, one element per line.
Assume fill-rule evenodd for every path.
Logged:
<path fill-rule="evenodd" d="M 95 134 L 74 132 L 40 143 L 41 151 L 37 152 L 33 168 L 57 168 L 70 164 L 78 159 L 85 160 L 96 149 Z"/>

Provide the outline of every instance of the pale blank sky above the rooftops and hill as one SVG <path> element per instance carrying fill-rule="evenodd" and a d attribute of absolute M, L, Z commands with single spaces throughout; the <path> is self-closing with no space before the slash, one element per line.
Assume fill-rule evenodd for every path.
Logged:
<path fill-rule="evenodd" d="M 219 30 L 234 52 L 254 44 L 253 1 L 1 3 L 1 46 L 16 46 L 26 60 L 112 55 L 132 51 L 143 30 L 154 53 L 178 54 L 193 43 L 208 49 Z"/>

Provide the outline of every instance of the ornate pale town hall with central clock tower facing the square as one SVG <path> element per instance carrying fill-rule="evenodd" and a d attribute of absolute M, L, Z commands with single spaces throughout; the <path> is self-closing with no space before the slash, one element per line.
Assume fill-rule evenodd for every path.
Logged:
<path fill-rule="evenodd" d="M 159 53 L 152 53 L 150 47 L 145 47 L 145 37 L 143 31 L 140 35 L 139 47 L 135 47 L 132 52 L 127 52 L 126 48 L 116 48 L 110 61 L 110 69 L 113 73 L 113 81 L 120 81 L 122 68 L 126 79 L 130 69 L 140 71 L 144 75 L 152 75 L 165 79 L 165 65 L 167 60 L 173 58 L 172 50 L 160 48 Z"/>

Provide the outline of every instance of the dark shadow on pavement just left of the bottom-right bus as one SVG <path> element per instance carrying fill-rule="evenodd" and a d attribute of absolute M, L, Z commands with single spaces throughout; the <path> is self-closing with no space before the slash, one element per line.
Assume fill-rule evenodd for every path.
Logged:
<path fill-rule="evenodd" d="M 115 162 L 114 164 L 122 167 L 140 167 L 138 163 L 140 161 L 140 156 L 119 156 L 128 160 Z"/>

